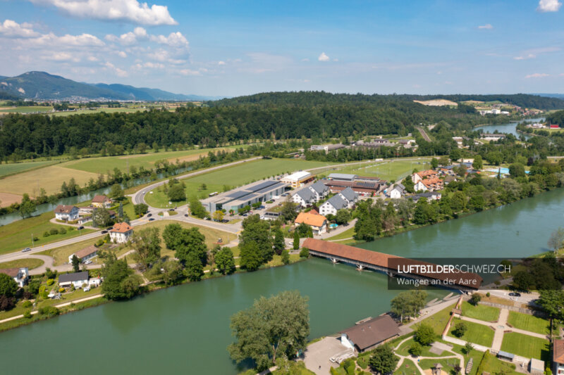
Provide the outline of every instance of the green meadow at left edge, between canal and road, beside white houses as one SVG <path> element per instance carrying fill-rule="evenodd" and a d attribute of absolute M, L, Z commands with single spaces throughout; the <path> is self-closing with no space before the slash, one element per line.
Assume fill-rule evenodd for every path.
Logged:
<path fill-rule="evenodd" d="M 49 219 L 54 217 L 53 212 L 45 212 L 42 215 L 30 217 L 25 220 L 18 220 L 11 224 L 0 227 L 0 239 L 2 240 L 1 253 L 10 253 L 11 251 L 22 250 L 23 248 L 32 247 L 32 236 L 37 237 L 38 241 L 34 241 L 33 246 L 41 246 L 46 243 L 61 241 L 79 236 L 78 230 L 61 224 L 53 224 Z M 67 229 L 66 234 L 54 234 L 44 237 L 44 231 L 49 229 Z M 82 234 L 90 233 L 92 229 L 82 229 Z"/>

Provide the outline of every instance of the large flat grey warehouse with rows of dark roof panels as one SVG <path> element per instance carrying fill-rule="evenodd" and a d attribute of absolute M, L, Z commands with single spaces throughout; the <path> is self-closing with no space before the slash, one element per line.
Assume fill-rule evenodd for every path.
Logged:
<path fill-rule="evenodd" d="M 218 194 L 206 198 L 202 201 L 202 205 L 209 212 L 225 209 L 238 212 L 245 205 L 252 203 L 269 201 L 273 196 L 280 196 L 284 193 L 288 184 L 274 180 L 266 180 L 254 182 L 245 186 L 241 186 L 231 191 Z"/>

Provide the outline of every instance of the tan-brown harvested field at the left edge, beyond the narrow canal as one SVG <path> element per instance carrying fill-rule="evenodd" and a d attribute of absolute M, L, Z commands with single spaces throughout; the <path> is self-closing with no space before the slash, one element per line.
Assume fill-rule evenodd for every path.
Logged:
<path fill-rule="evenodd" d="M 41 168 L 41 170 L 28 170 L 0 179 L 0 192 L 18 195 L 28 193 L 30 196 L 37 196 L 39 189 L 43 188 L 49 195 L 59 193 L 61 184 L 68 182 L 71 178 L 74 178 L 80 186 L 84 186 L 89 179 L 95 180 L 97 177 L 98 174 L 95 173 L 71 170 L 61 167 L 61 165 L 51 165 Z"/>

